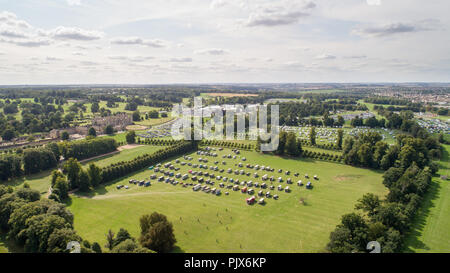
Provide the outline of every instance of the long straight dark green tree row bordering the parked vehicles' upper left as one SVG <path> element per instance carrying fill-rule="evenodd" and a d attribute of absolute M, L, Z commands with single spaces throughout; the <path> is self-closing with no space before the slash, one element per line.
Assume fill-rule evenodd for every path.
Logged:
<path fill-rule="evenodd" d="M 152 154 L 138 156 L 130 161 L 122 161 L 111 164 L 102 169 L 101 183 L 113 181 L 117 178 L 139 171 L 150 165 L 157 164 L 158 162 L 166 160 L 170 157 L 179 156 L 196 149 L 197 146 L 195 142 L 184 141 L 168 148 L 158 150 Z"/>

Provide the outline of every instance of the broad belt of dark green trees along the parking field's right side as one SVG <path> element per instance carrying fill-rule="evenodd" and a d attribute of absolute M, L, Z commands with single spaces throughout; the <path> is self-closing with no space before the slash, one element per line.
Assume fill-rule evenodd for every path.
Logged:
<path fill-rule="evenodd" d="M 377 139 L 377 136 L 366 135 L 350 142 L 358 147 L 373 144 Z M 341 223 L 330 234 L 327 245 L 329 251 L 366 252 L 370 241 L 380 243 L 382 252 L 398 252 L 402 249 L 403 238 L 411 227 L 432 175 L 437 172 L 437 166 L 433 166 L 427 158 L 426 141 L 403 136 L 397 145 L 389 148 L 387 144 L 376 142 L 375 158 L 380 158 L 380 149 L 386 150 L 381 163 L 377 164 L 388 168 L 383 175 L 383 184 L 389 193 L 385 200 L 371 193 L 365 194 L 355 206 L 360 213 L 342 216 Z M 356 152 L 355 157 L 370 166 L 366 153 L 371 154 L 367 147 Z M 383 164 L 385 161 L 387 163 Z"/>

